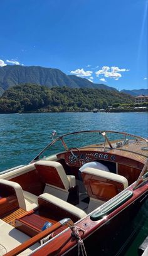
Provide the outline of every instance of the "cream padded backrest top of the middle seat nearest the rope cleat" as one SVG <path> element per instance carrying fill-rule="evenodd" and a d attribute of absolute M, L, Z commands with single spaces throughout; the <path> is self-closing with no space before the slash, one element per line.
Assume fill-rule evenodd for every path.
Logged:
<path fill-rule="evenodd" d="M 68 203 L 64 200 L 61 200 L 60 198 L 57 198 L 56 196 L 50 195 L 48 193 L 44 193 L 44 194 L 38 196 L 39 206 L 40 206 L 40 203 L 42 200 L 48 202 L 49 205 L 55 206 L 56 211 L 58 208 L 59 212 L 60 212 L 60 210 L 64 210 L 66 214 L 76 216 L 77 220 L 80 220 L 81 218 L 83 218 L 87 215 L 87 213 L 85 213 L 85 211 L 81 210 L 77 206 L 71 205 L 70 203 Z M 65 218 L 66 218 L 66 216 L 65 216 Z"/>

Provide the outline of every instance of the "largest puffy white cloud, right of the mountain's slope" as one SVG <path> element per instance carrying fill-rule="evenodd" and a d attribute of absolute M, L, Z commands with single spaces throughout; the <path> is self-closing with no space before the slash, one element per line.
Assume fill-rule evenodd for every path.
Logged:
<path fill-rule="evenodd" d="M 109 78 L 114 78 L 115 80 L 119 80 L 122 75 L 119 72 L 125 72 L 125 71 L 130 71 L 125 68 L 119 68 L 119 67 L 108 67 L 108 66 L 103 66 L 101 70 L 98 70 L 95 72 L 97 77 L 100 75 L 103 75 L 104 77 L 109 77 Z"/>

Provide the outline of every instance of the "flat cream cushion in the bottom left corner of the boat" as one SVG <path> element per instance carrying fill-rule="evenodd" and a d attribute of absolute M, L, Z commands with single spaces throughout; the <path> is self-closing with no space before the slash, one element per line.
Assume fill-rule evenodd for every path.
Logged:
<path fill-rule="evenodd" d="M 28 235 L 0 219 L 0 256 L 4 255 L 10 250 L 13 250 L 13 248 L 21 245 L 21 243 L 25 242 L 29 238 L 30 237 L 28 237 Z M 24 252 L 21 252 L 18 255 L 29 255 L 29 253 L 39 246 L 40 243 L 35 243 L 33 246 L 24 250 Z"/>

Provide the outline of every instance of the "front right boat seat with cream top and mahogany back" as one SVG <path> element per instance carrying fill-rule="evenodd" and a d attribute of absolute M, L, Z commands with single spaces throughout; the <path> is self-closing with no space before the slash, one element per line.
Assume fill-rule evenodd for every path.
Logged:
<path fill-rule="evenodd" d="M 119 174 L 102 171 L 95 168 L 85 168 L 81 171 L 83 184 L 90 196 L 88 213 L 105 201 L 110 200 L 128 186 L 128 181 Z"/>

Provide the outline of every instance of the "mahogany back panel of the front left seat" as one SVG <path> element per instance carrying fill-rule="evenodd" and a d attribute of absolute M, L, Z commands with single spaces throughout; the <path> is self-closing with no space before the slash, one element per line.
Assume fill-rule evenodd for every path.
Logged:
<path fill-rule="evenodd" d="M 43 183 L 48 183 L 58 188 L 65 189 L 61 178 L 53 166 L 36 165 L 36 170 L 40 175 L 40 179 Z"/>

